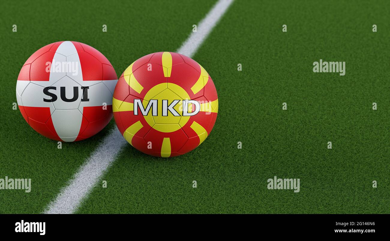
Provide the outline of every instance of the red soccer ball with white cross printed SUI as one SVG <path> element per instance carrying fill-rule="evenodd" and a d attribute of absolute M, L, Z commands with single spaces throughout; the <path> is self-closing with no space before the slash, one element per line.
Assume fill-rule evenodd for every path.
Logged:
<path fill-rule="evenodd" d="M 114 68 L 99 51 L 62 41 L 27 59 L 16 83 L 16 99 L 35 131 L 74 142 L 95 135 L 111 120 L 117 81 Z"/>

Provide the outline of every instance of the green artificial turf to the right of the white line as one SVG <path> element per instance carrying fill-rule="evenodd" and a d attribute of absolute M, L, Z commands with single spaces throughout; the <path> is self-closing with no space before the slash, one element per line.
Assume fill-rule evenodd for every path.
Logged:
<path fill-rule="evenodd" d="M 168 160 L 129 146 L 78 213 L 389 213 L 387 8 L 234 2 L 193 57 L 218 91 L 211 135 Z M 313 73 L 320 58 L 346 75 Z M 268 190 L 275 175 L 300 192 Z"/>

